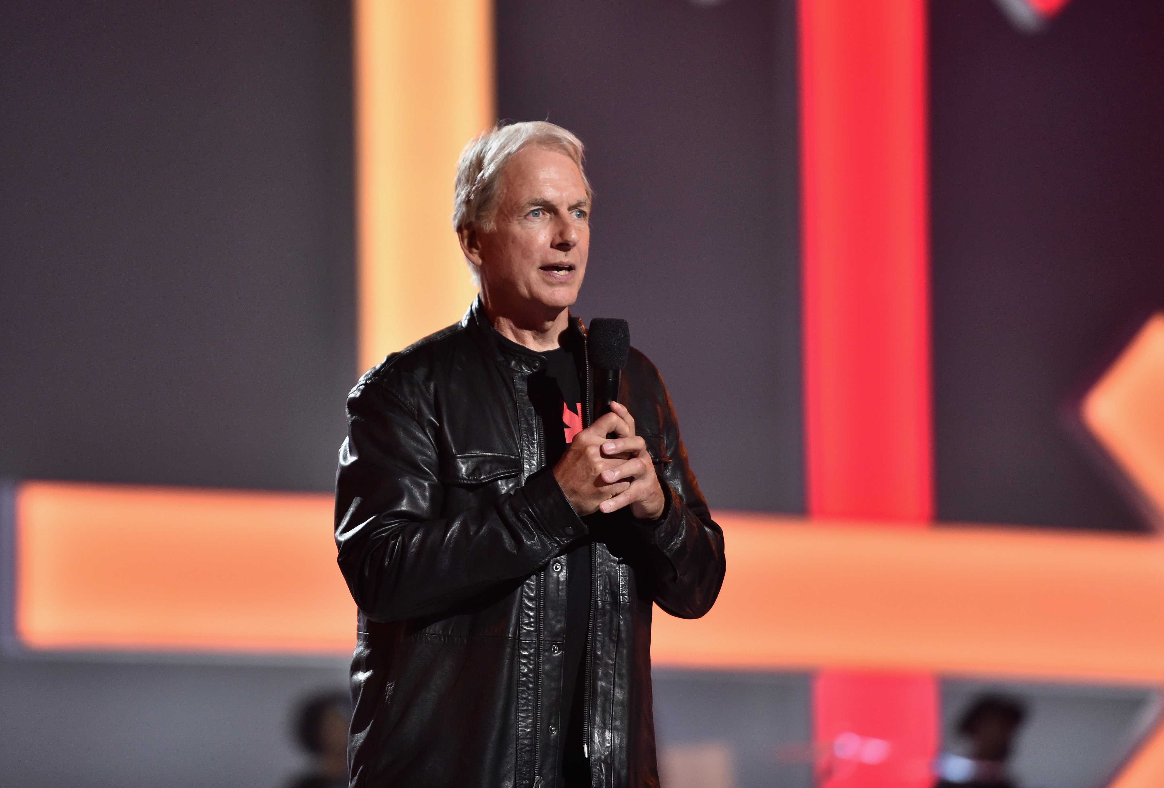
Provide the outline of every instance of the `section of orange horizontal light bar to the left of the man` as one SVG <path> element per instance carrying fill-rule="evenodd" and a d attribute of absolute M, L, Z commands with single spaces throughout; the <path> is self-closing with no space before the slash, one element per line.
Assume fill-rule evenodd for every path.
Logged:
<path fill-rule="evenodd" d="M 29 648 L 352 652 L 329 495 L 29 482 L 15 509 Z"/>

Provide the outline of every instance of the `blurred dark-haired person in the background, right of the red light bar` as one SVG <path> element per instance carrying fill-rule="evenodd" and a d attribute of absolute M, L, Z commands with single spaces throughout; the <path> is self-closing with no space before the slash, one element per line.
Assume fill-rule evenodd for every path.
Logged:
<path fill-rule="evenodd" d="M 1007 761 L 1025 717 L 1017 698 L 982 695 L 974 701 L 958 723 L 958 732 L 971 744 L 968 757 L 943 754 L 935 788 L 1017 788 Z"/>

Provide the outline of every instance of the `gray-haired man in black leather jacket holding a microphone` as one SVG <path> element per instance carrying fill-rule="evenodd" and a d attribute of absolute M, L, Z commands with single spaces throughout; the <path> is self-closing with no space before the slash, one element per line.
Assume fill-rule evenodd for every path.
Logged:
<path fill-rule="evenodd" d="M 651 613 L 724 576 L 654 365 L 591 423 L 582 143 L 501 126 L 457 165 L 481 294 L 348 398 L 339 563 L 359 606 L 350 785 L 658 786 Z M 424 264 L 424 261 L 417 261 Z"/>

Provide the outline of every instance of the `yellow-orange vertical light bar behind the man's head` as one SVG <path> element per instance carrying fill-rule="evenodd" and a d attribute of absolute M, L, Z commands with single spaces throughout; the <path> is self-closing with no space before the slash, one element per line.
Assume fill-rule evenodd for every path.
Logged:
<path fill-rule="evenodd" d="M 453 178 L 494 122 L 491 0 L 355 0 L 361 371 L 455 322 L 476 294 Z"/>

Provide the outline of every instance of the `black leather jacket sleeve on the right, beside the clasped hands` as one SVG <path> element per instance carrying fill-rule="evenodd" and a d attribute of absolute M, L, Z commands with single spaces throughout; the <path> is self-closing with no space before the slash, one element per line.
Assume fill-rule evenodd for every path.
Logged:
<path fill-rule="evenodd" d="M 663 450 L 670 459 L 656 466 L 659 483 L 668 496 L 662 517 L 638 526 L 652 573 L 655 603 L 672 616 L 698 618 L 711 610 L 724 581 L 723 530 L 711 519 L 687 462 L 675 409 L 655 372 Z"/>

